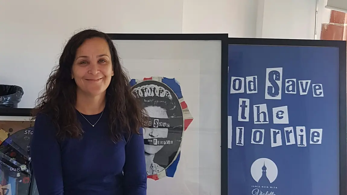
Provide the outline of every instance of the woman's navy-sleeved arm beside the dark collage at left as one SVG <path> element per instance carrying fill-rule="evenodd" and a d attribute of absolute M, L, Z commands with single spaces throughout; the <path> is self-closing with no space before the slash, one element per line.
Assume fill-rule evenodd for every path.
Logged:
<path fill-rule="evenodd" d="M 64 195 L 60 146 L 55 126 L 46 115 L 35 119 L 31 140 L 31 163 L 40 195 Z"/>

